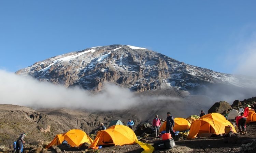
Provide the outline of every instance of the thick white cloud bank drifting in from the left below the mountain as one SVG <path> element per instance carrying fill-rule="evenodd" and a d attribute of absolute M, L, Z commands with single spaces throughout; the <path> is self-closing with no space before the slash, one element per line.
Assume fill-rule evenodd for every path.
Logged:
<path fill-rule="evenodd" d="M 92 95 L 80 88 L 65 88 L 39 82 L 29 76 L 0 70 L 0 104 L 14 104 L 37 108 L 81 108 L 94 110 L 128 109 L 142 103 L 176 100 L 168 96 L 136 96 L 128 89 L 105 84 L 102 92 Z"/>

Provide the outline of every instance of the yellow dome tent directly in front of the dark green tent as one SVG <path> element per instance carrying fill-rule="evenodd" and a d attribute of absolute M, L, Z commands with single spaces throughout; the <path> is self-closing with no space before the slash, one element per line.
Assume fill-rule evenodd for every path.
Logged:
<path fill-rule="evenodd" d="M 138 140 L 137 136 L 129 127 L 125 125 L 113 125 L 106 130 L 99 131 L 89 148 L 102 145 L 131 145 L 135 143 L 135 140 Z"/>

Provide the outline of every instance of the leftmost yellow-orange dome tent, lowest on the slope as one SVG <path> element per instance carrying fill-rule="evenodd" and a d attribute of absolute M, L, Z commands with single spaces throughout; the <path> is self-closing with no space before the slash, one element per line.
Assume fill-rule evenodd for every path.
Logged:
<path fill-rule="evenodd" d="M 68 141 L 68 144 L 71 147 L 81 146 L 84 142 L 89 144 L 93 143 L 93 139 L 91 139 L 84 131 L 73 129 L 66 133 L 56 135 L 46 148 L 50 148 L 53 145 L 60 145 L 64 140 Z"/>

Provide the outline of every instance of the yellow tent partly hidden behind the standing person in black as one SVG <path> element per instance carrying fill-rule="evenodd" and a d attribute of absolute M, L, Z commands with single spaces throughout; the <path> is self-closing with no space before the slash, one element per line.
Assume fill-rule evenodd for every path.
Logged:
<path fill-rule="evenodd" d="M 185 130 L 188 130 L 189 128 L 190 128 L 190 123 L 188 120 L 180 117 L 174 118 L 174 128 L 173 128 L 174 131 L 185 131 Z M 166 130 L 166 122 L 162 124 L 159 131 L 161 132 L 165 130 Z"/>

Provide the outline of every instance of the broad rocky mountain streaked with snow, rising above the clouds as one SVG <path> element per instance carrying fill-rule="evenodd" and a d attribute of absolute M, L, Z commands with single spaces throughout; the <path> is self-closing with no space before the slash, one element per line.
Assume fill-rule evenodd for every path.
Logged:
<path fill-rule="evenodd" d="M 118 84 L 133 91 L 146 91 L 170 86 L 191 89 L 208 84 L 255 86 L 255 79 L 219 73 L 188 65 L 148 50 L 129 45 L 110 45 L 71 52 L 18 70 L 40 81 L 80 86 L 99 91 L 104 82 Z"/>

